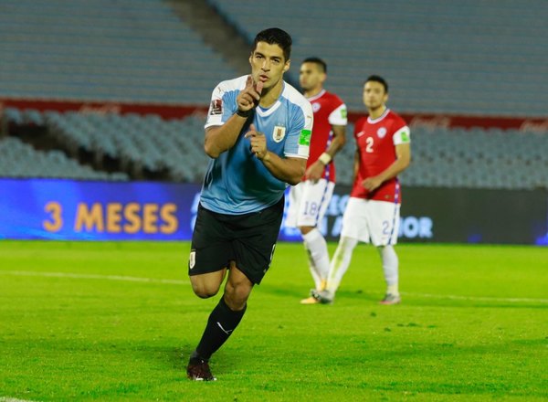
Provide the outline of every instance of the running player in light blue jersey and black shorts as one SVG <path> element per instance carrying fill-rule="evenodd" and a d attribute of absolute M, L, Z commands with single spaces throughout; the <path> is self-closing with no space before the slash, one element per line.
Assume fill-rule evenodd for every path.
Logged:
<path fill-rule="evenodd" d="M 211 157 L 198 206 L 188 274 L 198 297 L 223 297 L 209 315 L 191 355 L 190 379 L 211 381 L 209 358 L 246 312 L 276 247 L 284 191 L 296 185 L 309 155 L 311 104 L 283 80 L 291 37 L 269 28 L 255 37 L 251 75 L 223 81 L 213 91 L 205 122 Z"/>

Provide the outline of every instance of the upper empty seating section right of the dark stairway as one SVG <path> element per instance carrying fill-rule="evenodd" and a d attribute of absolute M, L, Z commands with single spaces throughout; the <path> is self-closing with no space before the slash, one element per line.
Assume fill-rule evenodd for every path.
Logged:
<path fill-rule="evenodd" d="M 269 26 L 290 32 L 294 80 L 300 60 L 324 58 L 327 88 L 351 110 L 364 109 L 364 79 L 379 74 L 391 85 L 395 111 L 546 114 L 543 0 L 209 1 L 248 40 Z"/>

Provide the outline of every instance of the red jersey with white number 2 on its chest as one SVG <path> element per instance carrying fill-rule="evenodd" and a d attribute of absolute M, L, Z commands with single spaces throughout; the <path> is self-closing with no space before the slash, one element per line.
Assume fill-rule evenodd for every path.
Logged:
<path fill-rule="evenodd" d="M 354 139 L 359 153 L 359 168 L 350 196 L 374 199 L 377 201 L 401 202 L 397 177 L 385 181 L 380 187 L 369 193 L 362 182 L 394 164 L 395 145 L 410 143 L 411 136 L 406 122 L 386 109 L 383 115 L 372 120 L 369 117 L 359 119 L 354 125 Z"/>

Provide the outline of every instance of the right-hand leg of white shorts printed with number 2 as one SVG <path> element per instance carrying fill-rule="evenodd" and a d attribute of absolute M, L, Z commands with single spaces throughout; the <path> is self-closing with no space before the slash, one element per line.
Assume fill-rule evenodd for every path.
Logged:
<path fill-rule="evenodd" d="M 385 201 L 369 201 L 368 221 L 374 246 L 395 245 L 399 231 L 400 205 Z"/>

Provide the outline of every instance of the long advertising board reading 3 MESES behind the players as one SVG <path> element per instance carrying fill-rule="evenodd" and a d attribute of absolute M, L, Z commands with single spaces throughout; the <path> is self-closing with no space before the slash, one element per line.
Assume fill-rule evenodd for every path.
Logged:
<path fill-rule="evenodd" d="M 189 240 L 200 188 L 153 182 L 0 179 L 0 238 Z M 338 240 L 341 234 L 349 193 L 349 186 L 335 187 L 319 223 L 328 240 Z M 547 199 L 543 189 L 404 188 L 399 239 L 547 245 Z M 279 239 L 301 241 L 299 230 L 284 223 Z"/>

